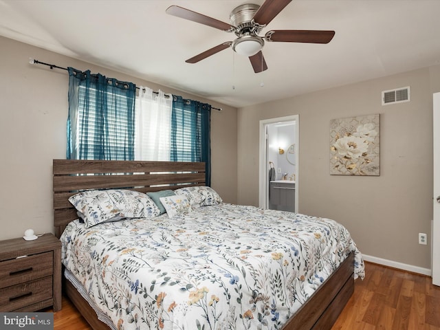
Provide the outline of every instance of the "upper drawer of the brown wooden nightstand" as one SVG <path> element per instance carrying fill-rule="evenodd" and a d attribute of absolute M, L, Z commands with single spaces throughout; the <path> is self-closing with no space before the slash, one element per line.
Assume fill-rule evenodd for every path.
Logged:
<path fill-rule="evenodd" d="M 0 289 L 52 275 L 53 252 L 0 262 Z"/>

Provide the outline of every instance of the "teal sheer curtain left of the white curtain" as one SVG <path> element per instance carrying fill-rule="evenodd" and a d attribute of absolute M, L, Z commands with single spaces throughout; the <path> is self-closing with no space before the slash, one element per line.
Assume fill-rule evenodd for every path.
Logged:
<path fill-rule="evenodd" d="M 68 71 L 67 159 L 134 159 L 136 86 Z"/>

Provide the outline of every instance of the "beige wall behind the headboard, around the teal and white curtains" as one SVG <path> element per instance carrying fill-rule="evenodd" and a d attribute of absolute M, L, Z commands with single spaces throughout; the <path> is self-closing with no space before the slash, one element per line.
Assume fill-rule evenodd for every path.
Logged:
<path fill-rule="evenodd" d="M 212 188 L 236 202 L 236 109 L 133 76 L 0 37 L 0 239 L 23 236 L 28 228 L 53 232 L 52 159 L 65 159 L 67 72 L 30 65 L 29 58 L 91 69 L 212 104 Z"/>

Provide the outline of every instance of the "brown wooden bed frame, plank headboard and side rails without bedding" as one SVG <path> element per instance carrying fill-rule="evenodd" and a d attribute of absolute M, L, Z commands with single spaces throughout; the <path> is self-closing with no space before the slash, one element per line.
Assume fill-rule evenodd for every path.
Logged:
<path fill-rule="evenodd" d="M 148 192 L 206 185 L 205 164 L 200 162 L 54 159 L 53 173 L 54 228 L 58 238 L 66 225 L 78 218 L 68 199 L 80 190 L 124 188 Z M 353 269 L 351 253 L 283 329 L 331 329 L 353 294 Z M 65 278 L 63 291 L 94 330 L 109 329 Z"/>

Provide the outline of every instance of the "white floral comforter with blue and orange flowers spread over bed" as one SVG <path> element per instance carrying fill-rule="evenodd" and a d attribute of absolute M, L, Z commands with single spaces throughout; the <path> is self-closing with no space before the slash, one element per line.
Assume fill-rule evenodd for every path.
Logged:
<path fill-rule="evenodd" d="M 89 229 L 77 220 L 61 241 L 71 281 L 115 329 L 281 329 L 349 252 L 364 277 L 336 221 L 228 203 Z"/>

